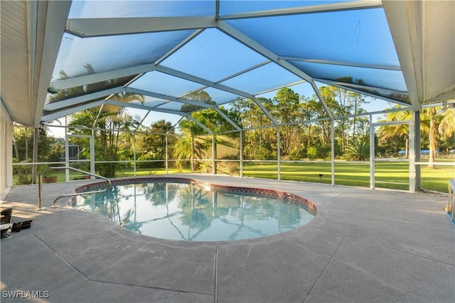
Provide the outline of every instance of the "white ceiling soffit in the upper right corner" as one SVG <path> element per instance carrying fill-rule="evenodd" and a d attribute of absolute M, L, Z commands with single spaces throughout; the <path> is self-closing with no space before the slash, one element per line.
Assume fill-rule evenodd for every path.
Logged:
<path fill-rule="evenodd" d="M 455 99 L 455 1 L 383 1 L 412 106 Z"/>

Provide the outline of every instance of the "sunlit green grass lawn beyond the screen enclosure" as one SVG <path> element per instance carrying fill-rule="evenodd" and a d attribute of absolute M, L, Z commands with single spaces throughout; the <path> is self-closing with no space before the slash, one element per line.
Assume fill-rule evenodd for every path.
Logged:
<path fill-rule="evenodd" d="M 438 162 L 454 162 L 454 159 L 437 159 Z M 455 178 L 455 166 L 439 165 L 429 169 L 421 165 L 422 187 L 436 192 L 448 192 L 448 180 Z M 169 168 L 168 173 L 191 172 L 189 167 L 179 171 Z M 137 169 L 137 176 L 164 175 L 165 168 Z M 65 182 L 65 171 L 56 170 L 58 182 Z M 277 179 L 277 163 L 274 162 L 244 162 L 245 177 L 262 177 Z M 322 175 L 320 177 L 320 175 Z M 70 174 L 70 180 L 76 175 Z M 133 177 L 132 168 L 119 168 L 115 177 Z M 322 182 L 331 184 L 331 163 L 329 162 L 282 162 L 281 179 L 303 182 Z M 17 176 L 14 176 L 16 182 Z M 16 184 L 16 183 L 15 183 Z M 335 184 L 370 187 L 370 163 L 336 162 Z M 409 164 L 407 162 L 375 162 L 375 187 L 387 189 L 409 189 Z"/>

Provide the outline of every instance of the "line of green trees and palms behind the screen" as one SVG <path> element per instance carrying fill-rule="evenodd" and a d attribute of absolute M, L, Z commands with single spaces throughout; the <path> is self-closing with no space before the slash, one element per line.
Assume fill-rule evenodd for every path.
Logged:
<path fill-rule="evenodd" d="M 238 160 L 240 132 L 235 125 L 243 130 L 244 159 L 276 160 L 278 142 L 283 160 L 330 159 L 332 122 L 328 110 L 334 117 L 340 117 L 333 120 L 334 157 L 367 160 L 370 156 L 370 121 L 363 115 L 366 112 L 363 106 L 370 100 L 357 92 L 332 86 L 321 87 L 320 92 L 324 104 L 316 94 L 306 97 L 283 88 L 272 98 L 237 99 L 226 106 L 218 106 L 219 111 L 215 110 L 216 103 L 207 92 L 195 92 L 185 97 L 192 101 L 191 104 L 181 106 L 181 111 L 190 114 L 191 118 L 181 119 L 178 125 L 159 120 L 144 126 L 141 117 L 132 116 L 126 107 L 105 104 L 70 115 L 68 128 L 73 134 L 87 136 L 92 135 L 93 128 L 95 161 L 107 161 L 97 165 L 97 172 L 113 177 L 119 165 L 115 161 L 131 161 L 134 152 L 137 160 L 164 160 L 166 146 L 170 159 L 211 158 L 212 141 L 215 140 L 217 147 L 237 150 L 237 153 L 229 154 L 215 148 L 216 159 Z M 132 93 L 115 94 L 112 99 L 125 103 L 143 103 L 145 100 L 144 96 Z M 200 106 L 194 105 L 198 103 Z M 409 120 L 410 114 L 410 111 L 391 111 L 382 121 Z M 422 147 L 434 152 L 438 148 L 454 149 L 454 109 L 423 109 L 421 125 Z M 208 131 L 214 135 L 208 136 Z M 396 155 L 400 150 L 407 150 L 408 133 L 407 124 L 380 126 L 375 132 L 377 154 Z M 78 156 L 88 158 L 90 145 L 87 139 L 71 140 L 80 146 Z M 14 142 L 16 161 L 31 160 L 33 131 L 14 128 Z M 54 141 L 43 128 L 38 141 L 38 161 L 59 160 L 63 151 L 64 145 Z M 137 165 L 164 163 L 138 162 Z"/>

